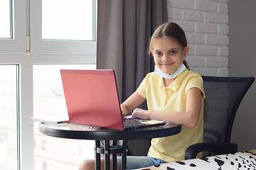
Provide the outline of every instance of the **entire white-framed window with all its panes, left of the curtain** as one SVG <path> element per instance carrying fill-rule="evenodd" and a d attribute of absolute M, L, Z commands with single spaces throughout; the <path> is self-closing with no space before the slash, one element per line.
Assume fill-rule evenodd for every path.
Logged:
<path fill-rule="evenodd" d="M 73 11 L 75 6 L 80 10 Z M 66 112 L 59 69 L 96 68 L 96 6 L 96 0 L 0 1 L 0 169 L 41 169 L 43 164 L 47 169 L 60 164 L 64 170 L 77 169 L 82 159 L 94 157 L 93 141 L 47 137 L 29 117 L 54 109 Z M 70 26 L 64 33 L 58 26 L 66 23 L 56 25 L 61 20 Z M 11 128 L 4 121 L 9 119 Z M 43 152 L 42 140 L 47 142 Z M 68 149 L 56 147 L 58 143 Z M 74 155 L 76 161 L 55 159 L 61 154 Z M 46 159 L 49 155 L 54 159 Z"/>

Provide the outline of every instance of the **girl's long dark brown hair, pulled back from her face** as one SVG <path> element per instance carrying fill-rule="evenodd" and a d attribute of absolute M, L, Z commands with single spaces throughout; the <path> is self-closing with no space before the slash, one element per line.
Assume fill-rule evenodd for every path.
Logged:
<path fill-rule="evenodd" d="M 181 47 L 185 48 L 188 45 L 188 42 L 186 40 L 186 35 L 183 31 L 183 29 L 178 26 L 176 23 L 163 23 L 161 26 L 156 28 L 154 31 L 153 35 L 151 36 L 151 40 L 149 42 L 149 55 L 151 55 L 151 50 L 153 50 L 153 40 L 154 38 L 171 38 L 171 40 L 174 40 L 178 42 Z M 188 63 L 186 60 L 183 60 L 183 64 L 186 66 L 187 69 Z M 189 69 L 190 70 L 190 69 Z M 203 99 L 203 118 L 206 120 L 207 118 L 207 111 L 208 111 L 208 106 L 206 103 L 206 99 Z"/>

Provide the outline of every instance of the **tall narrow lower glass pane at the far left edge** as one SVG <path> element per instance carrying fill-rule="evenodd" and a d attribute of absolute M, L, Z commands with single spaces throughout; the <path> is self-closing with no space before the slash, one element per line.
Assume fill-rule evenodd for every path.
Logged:
<path fill-rule="evenodd" d="M 16 65 L 0 65 L 0 169 L 17 169 Z"/>

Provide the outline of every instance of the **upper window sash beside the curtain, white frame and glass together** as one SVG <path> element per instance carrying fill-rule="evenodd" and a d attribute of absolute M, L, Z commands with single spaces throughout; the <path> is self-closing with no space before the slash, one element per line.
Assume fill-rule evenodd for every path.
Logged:
<path fill-rule="evenodd" d="M 33 54 L 95 57 L 95 0 L 38 0 L 30 6 Z"/>

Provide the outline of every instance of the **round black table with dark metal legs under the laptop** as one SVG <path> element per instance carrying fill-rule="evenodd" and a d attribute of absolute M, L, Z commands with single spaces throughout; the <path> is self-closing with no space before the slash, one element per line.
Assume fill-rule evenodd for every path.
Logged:
<path fill-rule="evenodd" d="M 112 154 L 112 169 L 117 169 L 117 154 L 122 154 L 122 169 L 126 169 L 128 140 L 151 139 L 176 135 L 181 132 L 181 125 L 166 123 L 166 125 L 163 126 L 138 130 L 107 130 L 71 123 L 40 123 L 39 131 L 44 135 L 52 137 L 95 140 L 97 170 L 100 170 L 100 154 L 105 154 L 105 169 L 110 169 L 110 154 Z M 105 145 L 100 146 L 100 140 L 105 140 Z M 110 145 L 110 140 L 112 140 L 112 145 Z M 117 145 L 117 140 L 123 140 L 122 146 Z"/>

